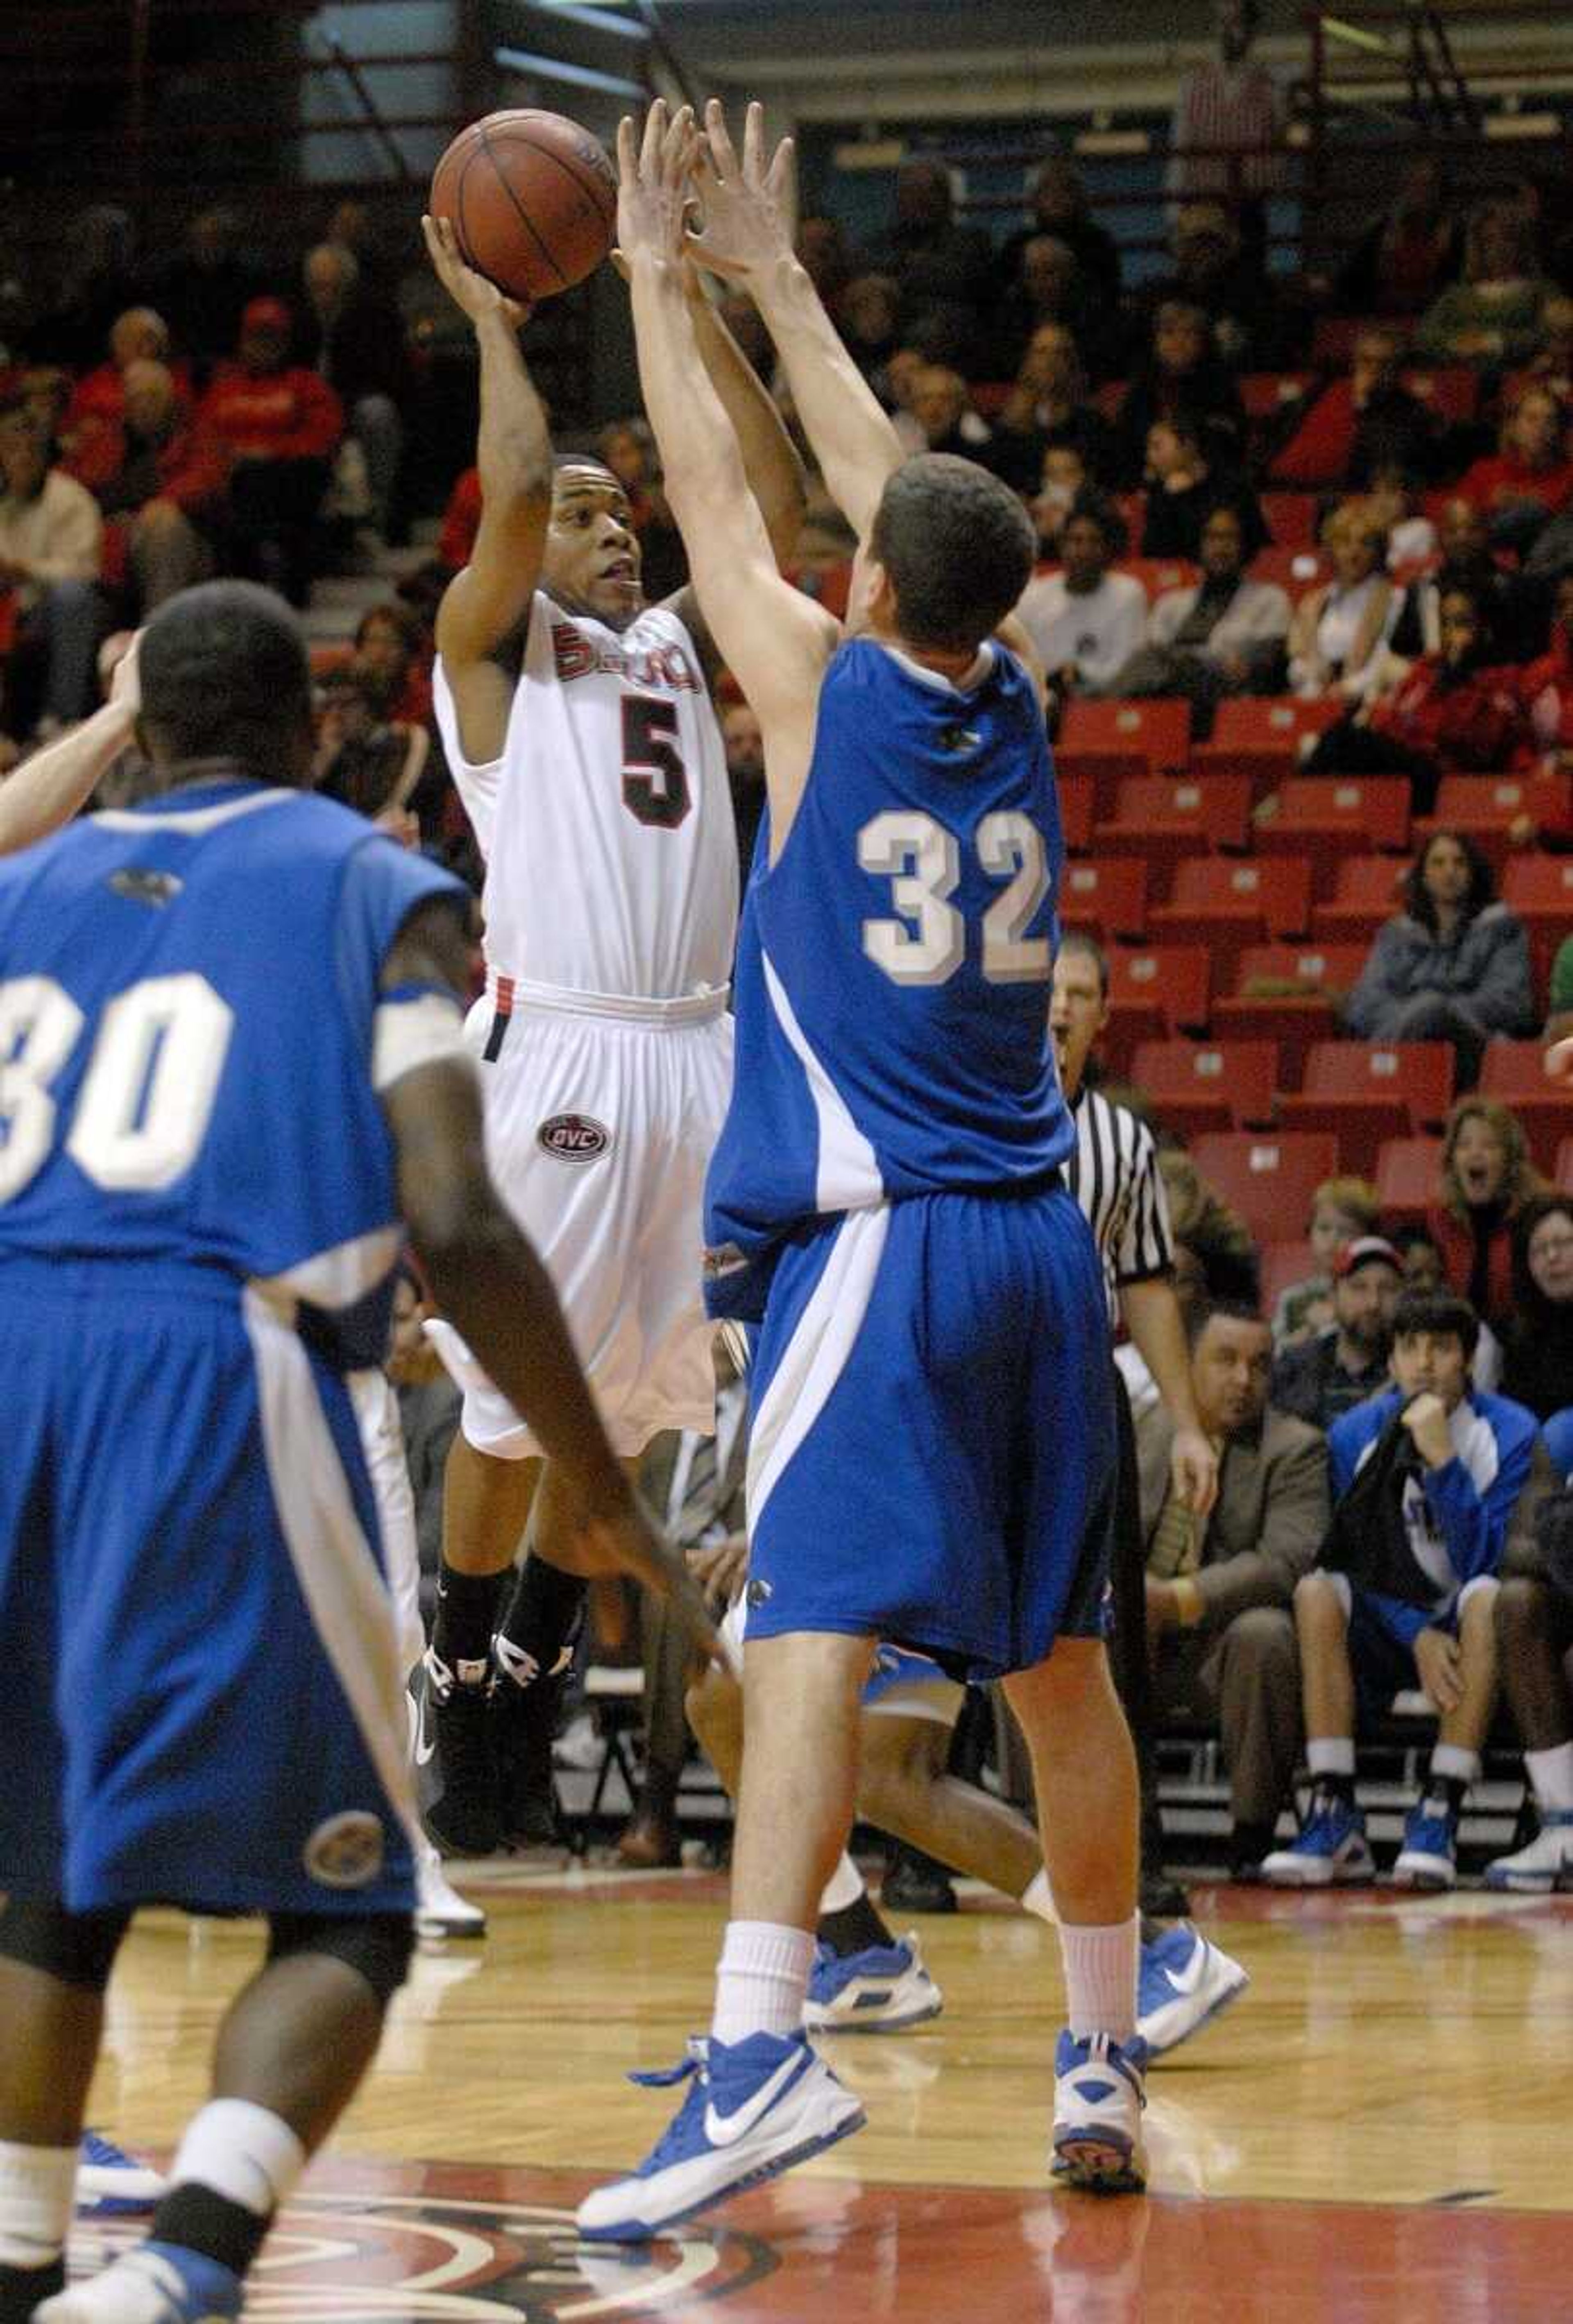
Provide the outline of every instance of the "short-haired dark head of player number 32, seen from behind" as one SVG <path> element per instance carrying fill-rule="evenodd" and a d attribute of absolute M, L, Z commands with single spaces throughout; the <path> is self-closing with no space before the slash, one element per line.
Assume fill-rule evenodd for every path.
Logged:
<path fill-rule="evenodd" d="M 1039 539 L 999 476 L 932 451 L 890 476 L 869 548 L 890 579 L 906 644 L 974 653 L 1027 588 Z"/>

